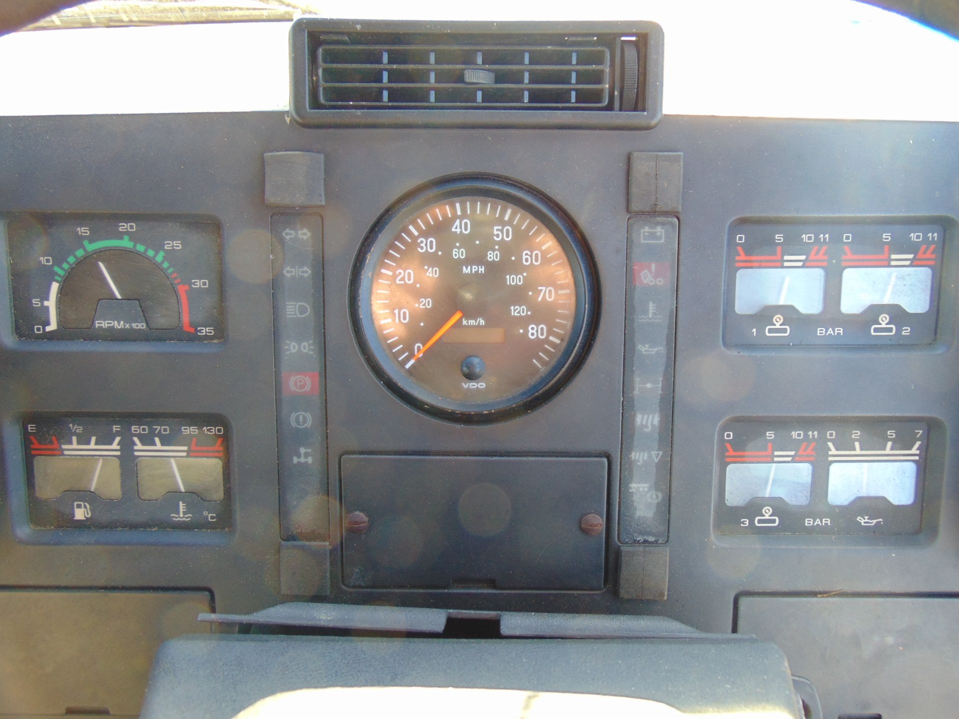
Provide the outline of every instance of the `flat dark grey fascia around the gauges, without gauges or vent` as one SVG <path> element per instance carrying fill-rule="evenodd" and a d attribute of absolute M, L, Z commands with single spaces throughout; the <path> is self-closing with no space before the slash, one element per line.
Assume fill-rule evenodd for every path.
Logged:
<path fill-rule="evenodd" d="M 324 155 L 325 205 L 279 210 L 265 204 L 264 154 L 273 151 Z M 631 152 L 682 152 L 681 210 L 627 211 Z M 956 237 L 950 218 L 959 214 L 957 157 L 959 129 L 936 123 L 667 116 L 647 131 L 600 133 L 300 128 L 281 112 L 11 118 L 0 127 L 3 212 L 132 213 L 220 223 L 225 335 L 222 342 L 209 343 L 20 339 L 3 274 L 0 313 L 7 320 L 0 322 L 0 422 L 7 491 L 0 583 L 202 588 L 212 592 L 218 612 L 229 614 L 315 599 L 489 612 L 655 614 L 712 632 L 733 628 L 737 596 L 744 592 L 954 593 L 959 590 L 959 495 L 951 480 L 959 472 L 954 266 L 941 275 L 931 343 L 734 346 L 724 341 L 723 313 L 727 240 L 730 227 L 744 218 L 834 219 L 835 224 L 919 219 L 924 227 L 943 228 L 944 256 L 951 262 Z M 350 277 L 377 218 L 422 183 L 463 172 L 513 178 L 562 207 L 595 260 L 599 299 L 595 334 L 569 383 L 542 406 L 480 425 L 436 418 L 394 396 L 364 361 L 351 322 Z M 292 222 L 294 215 L 309 220 Z M 675 313 L 674 365 L 662 359 L 642 365 L 643 372 L 659 373 L 660 382 L 672 378 L 671 394 L 658 396 L 649 410 L 635 403 L 626 407 L 629 421 L 656 429 L 668 442 L 666 449 L 637 445 L 634 457 L 623 452 L 623 437 L 630 441 L 623 428 L 623 387 L 636 380 L 623 364 L 627 302 L 636 296 L 629 292 L 653 291 L 658 279 L 664 282 L 659 287 L 673 281 L 664 267 L 644 265 L 634 275 L 633 263 L 672 262 L 667 254 L 628 253 L 627 226 L 639 216 L 663 225 L 664 237 L 668 217 L 678 218 L 679 239 L 675 299 L 667 292 L 656 310 L 667 311 L 662 315 L 667 323 Z M 322 237 L 312 245 L 314 254 L 295 266 L 313 273 L 305 291 L 284 284 L 286 276 L 276 276 L 282 268 L 273 262 L 277 237 L 293 227 L 310 227 Z M 6 251 L 4 244 L 0 252 Z M 3 260 L 6 266 L 9 258 Z M 294 268 L 293 276 L 306 275 Z M 281 294 L 294 290 L 300 294 Z M 276 313 L 274 301 L 282 308 Z M 286 320 L 296 319 L 297 302 L 322 313 L 321 322 L 313 315 L 314 335 L 274 338 L 274 327 L 292 326 Z M 649 317 L 656 314 L 646 309 Z M 637 311 L 630 305 L 629 316 Z M 642 339 L 640 326 L 634 329 Z M 668 330 L 657 335 L 664 348 L 669 336 Z M 313 342 L 316 359 L 288 362 L 287 341 Z M 643 344 L 650 354 L 641 351 L 640 359 L 659 357 Z M 630 356 L 635 359 L 636 353 Z M 638 366 L 631 364 L 629 371 L 640 371 Z M 671 424 L 664 409 L 671 410 Z M 309 426 L 302 426 L 302 416 L 300 425 L 291 423 L 292 414 L 305 411 L 311 412 Z M 33 412 L 222 417 L 229 429 L 230 528 L 32 527 L 20 448 L 23 421 Z M 830 431 L 835 418 L 928 426 L 922 511 L 917 506 L 912 516 L 921 514 L 919 525 L 885 535 L 720 533 L 715 518 L 724 495 L 717 484 L 717 437 L 733 418 L 775 420 L 790 430 L 796 423 L 819 423 Z M 669 452 L 669 445 L 665 481 L 648 475 L 662 493 L 654 503 L 667 510 L 659 515 L 658 534 L 625 532 L 620 458 L 639 461 L 653 456 L 642 452 Z M 784 451 L 793 449 L 799 450 Z M 495 577 L 469 574 L 446 577 L 451 586 L 444 590 L 396 589 L 395 579 L 371 583 L 378 588 L 359 587 L 345 571 L 352 567 L 348 557 L 357 538 L 349 534 L 344 542 L 343 533 L 349 515 L 364 510 L 350 505 L 340 469 L 344 458 L 356 454 L 506 455 L 549 458 L 546 462 L 604 458 L 605 505 L 590 507 L 603 520 L 604 551 L 590 555 L 589 572 L 575 582 L 549 585 L 568 589 L 503 589 L 485 581 Z M 408 515 L 416 517 L 415 507 Z M 763 516 L 761 507 L 756 516 Z M 441 543 L 456 537 L 451 526 L 437 530 Z M 583 532 L 577 540 L 587 539 Z M 633 542 L 641 544 L 628 546 Z M 315 582 L 297 584 L 281 576 L 281 556 L 292 545 L 320 558 Z M 668 591 L 658 601 L 621 591 L 620 568 L 630 566 L 622 557 L 637 556 L 625 552 L 650 548 L 668 551 Z M 467 581 L 453 586 L 458 579 Z"/>

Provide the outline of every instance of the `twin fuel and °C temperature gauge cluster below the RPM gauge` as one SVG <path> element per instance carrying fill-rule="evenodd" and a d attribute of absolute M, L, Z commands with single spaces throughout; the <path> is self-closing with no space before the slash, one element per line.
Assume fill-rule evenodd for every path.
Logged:
<path fill-rule="evenodd" d="M 35 414 L 23 453 L 36 529 L 230 528 L 222 417 Z"/>

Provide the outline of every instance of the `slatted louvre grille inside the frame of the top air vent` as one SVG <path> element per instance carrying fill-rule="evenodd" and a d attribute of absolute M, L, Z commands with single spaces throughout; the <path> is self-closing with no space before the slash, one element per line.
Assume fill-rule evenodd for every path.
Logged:
<path fill-rule="evenodd" d="M 573 45 L 351 45 L 316 51 L 323 107 L 608 109 L 610 51 Z"/>

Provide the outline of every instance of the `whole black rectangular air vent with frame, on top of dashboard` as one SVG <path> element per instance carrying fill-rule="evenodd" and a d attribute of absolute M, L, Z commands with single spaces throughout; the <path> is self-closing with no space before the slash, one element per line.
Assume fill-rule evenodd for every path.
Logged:
<path fill-rule="evenodd" d="M 651 23 L 293 24 L 293 118 L 313 127 L 649 128 L 661 117 Z"/>

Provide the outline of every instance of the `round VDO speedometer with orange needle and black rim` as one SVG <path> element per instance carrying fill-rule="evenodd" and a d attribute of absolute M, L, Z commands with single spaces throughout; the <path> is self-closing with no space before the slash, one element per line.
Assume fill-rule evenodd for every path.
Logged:
<path fill-rule="evenodd" d="M 354 325 L 377 375 L 433 414 L 483 422 L 567 382 L 596 317 L 573 221 L 498 177 L 451 177 L 399 200 L 363 244 Z"/>

